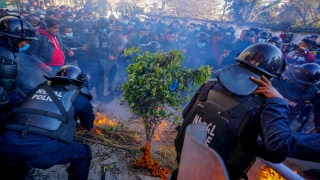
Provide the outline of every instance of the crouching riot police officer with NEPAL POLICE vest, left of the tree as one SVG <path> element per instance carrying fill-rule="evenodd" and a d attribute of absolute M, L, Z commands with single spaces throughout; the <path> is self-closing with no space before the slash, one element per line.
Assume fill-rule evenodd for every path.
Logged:
<path fill-rule="evenodd" d="M 0 166 L 4 179 L 22 179 L 30 167 L 46 169 L 71 163 L 69 180 L 88 177 L 90 146 L 73 141 L 76 119 L 90 130 L 94 114 L 81 70 L 61 67 L 55 76 L 33 89 L 7 119 L 0 138 Z"/>

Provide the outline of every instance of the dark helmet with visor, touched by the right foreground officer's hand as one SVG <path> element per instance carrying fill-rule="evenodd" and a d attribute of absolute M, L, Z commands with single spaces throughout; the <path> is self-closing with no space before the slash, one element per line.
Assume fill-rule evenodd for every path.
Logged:
<path fill-rule="evenodd" d="M 280 79 L 286 68 L 286 61 L 279 48 L 266 43 L 253 44 L 237 58 L 238 63 L 222 69 L 217 74 L 220 84 L 236 95 L 248 95 L 258 88 L 250 77 Z"/>

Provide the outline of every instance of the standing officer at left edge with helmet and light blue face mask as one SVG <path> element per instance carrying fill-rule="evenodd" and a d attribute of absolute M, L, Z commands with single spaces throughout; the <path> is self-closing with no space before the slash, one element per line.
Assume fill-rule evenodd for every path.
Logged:
<path fill-rule="evenodd" d="M 0 19 L 0 86 L 9 99 L 2 107 L 1 120 L 5 120 L 7 112 L 21 101 L 17 89 L 18 64 L 14 53 L 26 51 L 31 40 L 37 38 L 24 17 L 8 15 Z"/>

